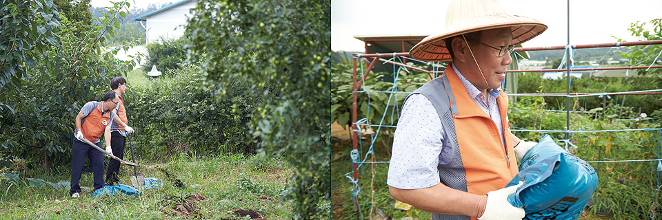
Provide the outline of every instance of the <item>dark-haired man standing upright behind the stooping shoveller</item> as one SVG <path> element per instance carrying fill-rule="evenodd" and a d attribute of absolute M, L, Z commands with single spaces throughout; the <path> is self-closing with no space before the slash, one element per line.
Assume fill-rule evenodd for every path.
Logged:
<path fill-rule="evenodd" d="M 126 109 L 124 109 L 124 98 L 122 95 L 126 93 L 126 80 L 122 77 L 115 77 L 110 80 L 110 89 L 118 94 L 119 103 L 117 107 L 113 110 L 115 115 L 119 116 L 119 119 L 127 124 L 128 120 L 126 119 Z M 110 142 L 110 145 L 106 145 L 106 151 L 119 157 L 119 159 L 124 159 L 124 147 L 126 146 L 126 130 L 123 126 L 119 126 L 118 123 L 111 122 L 110 126 L 106 127 L 106 142 Z M 110 138 L 110 140 L 108 140 Z M 108 170 L 106 171 L 106 184 L 108 186 L 114 186 L 115 183 L 119 181 L 117 177 L 117 172 L 119 172 L 119 161 L 111 159 L 108 163 Z"/>

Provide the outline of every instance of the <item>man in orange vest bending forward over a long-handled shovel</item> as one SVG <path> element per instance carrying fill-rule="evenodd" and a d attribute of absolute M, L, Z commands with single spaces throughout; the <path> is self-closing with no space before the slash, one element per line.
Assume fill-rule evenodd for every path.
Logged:
<path fill-rule="evenodd" d="M 119 96 L 114 91 L 108 91 L 103 96 L 103 102 L 88 102 L 76 116 L 76 130 L 74 130 L 74 142 L 72 144 L 72 162 L 71 162 L 71 188 L 69 195 L 71 197 L 79 197 L 81 186 L 81 174 L 83 173 L 83 165 L 85 159 L 90 159 L 92 164 L 92 171 L 94 172 L 94 190 L 105 186 L 103 184 L 103 153 L 97 151 L 94 147 L 87 144 L 88 140 L 101 148 L 101 140 L 99 137 L 106 130 L 106 126 L 114 121 L 123 126 L 127 132 L 133 132 L 133 129 L 126 125 L 126 123 L 114 117 L 114 113 L 110 111 L 117 107 Z M 106 139 L 106 145 L 109 145 Z"/>

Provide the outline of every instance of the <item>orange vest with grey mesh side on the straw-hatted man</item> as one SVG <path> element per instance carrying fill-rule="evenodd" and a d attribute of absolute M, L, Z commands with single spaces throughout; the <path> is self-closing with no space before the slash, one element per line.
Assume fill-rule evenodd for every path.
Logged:
<path fill-rule="evenodd" d="M 421 94 L 430 100 L 451 143 L 444 146 L 450 148 L 449 161 L 437 165 L 441 184 L 483 195 L 504 188 L 515 177 L 518 170 L 507 116 L 508 97 L 503 92 L 496 97 L 496 103 L 501 114 L 505 147 L 499 128 L 469 96 L 450 65 L 442 76 L 430 80 L 412 94 Z M 468 217 L 432 213 L 432 219 Z"/>

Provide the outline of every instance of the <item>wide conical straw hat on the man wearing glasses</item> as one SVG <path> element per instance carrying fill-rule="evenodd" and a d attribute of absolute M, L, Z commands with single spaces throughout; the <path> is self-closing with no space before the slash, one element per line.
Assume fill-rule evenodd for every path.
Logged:
<path fill-rule="evenodd" d="M 547 30 L 547 25 L 536 19 L 506 14 L 497 0 L 454 0 L 448 5 L 445 28 L 439 34 L 425 37 L 412 47 L 409 55 L 420 61 L 452 61 L 445 39 L 505 27 L 512 27 L 511 45 L 521 44 Z"/>

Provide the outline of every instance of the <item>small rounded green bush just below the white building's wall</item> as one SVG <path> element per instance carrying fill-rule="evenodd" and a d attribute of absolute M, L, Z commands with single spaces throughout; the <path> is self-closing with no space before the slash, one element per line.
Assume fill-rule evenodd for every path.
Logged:
<path fill-rule="evenodd" d="M 145 71 L 152 70 L 156 65 L 163 75 L 174 74 L 172 71 L 182 67 L 186 60 L 186 43 L 190 39 L 182 36 L 179 39 L 161 38 L 161 42 L 152 42 L 147 45 L 146 63 L 143 65 Z"/>

